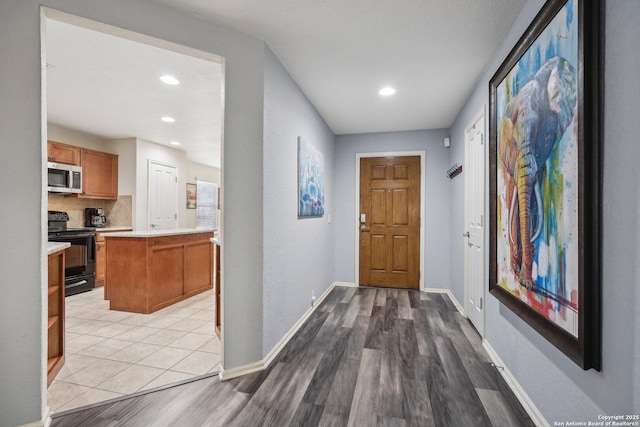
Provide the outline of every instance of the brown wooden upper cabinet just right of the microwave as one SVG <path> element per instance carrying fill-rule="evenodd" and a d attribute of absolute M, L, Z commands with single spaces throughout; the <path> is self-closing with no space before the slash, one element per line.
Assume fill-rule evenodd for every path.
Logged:
<path fill-rule="evenodd" d="M 118 156 L 81 149 L 82 194 L 89 199 L 118 198 Z"/>

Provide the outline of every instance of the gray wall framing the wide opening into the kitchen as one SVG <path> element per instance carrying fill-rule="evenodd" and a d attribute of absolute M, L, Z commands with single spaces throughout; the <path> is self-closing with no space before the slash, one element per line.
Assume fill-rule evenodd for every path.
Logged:
<path fill-rule="evenodd" d="M 225 368 L 262 358 L 262 136 L 264 42 L 140 0 L 0 3 L 0 424 L 42 419 L 46 265 L 46 147 L 41 129 L 40 5 L 226 58 L 223 263 Z M 39 255 L 38 255 L 39 254 Z M 35 257 L 35 258 L 34 258 Z M 256 260 L 258 260 L 256 262 Z"/>

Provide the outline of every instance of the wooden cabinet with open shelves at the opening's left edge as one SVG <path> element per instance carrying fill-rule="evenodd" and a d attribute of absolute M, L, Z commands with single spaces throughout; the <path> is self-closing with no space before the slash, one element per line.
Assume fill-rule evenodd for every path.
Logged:
<path fill-rule="evenodd" d="M 49 254 L 47 386 L 64 365 L 64 249 Z"/>

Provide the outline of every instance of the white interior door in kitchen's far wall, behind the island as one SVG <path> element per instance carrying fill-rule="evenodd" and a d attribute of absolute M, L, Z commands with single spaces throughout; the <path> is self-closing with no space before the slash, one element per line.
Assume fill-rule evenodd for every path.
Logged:
<path fill-rule="evenodd" d="M 178 171 L 149 161 L 149 229 L 167 230 L 178 224 Z"/>

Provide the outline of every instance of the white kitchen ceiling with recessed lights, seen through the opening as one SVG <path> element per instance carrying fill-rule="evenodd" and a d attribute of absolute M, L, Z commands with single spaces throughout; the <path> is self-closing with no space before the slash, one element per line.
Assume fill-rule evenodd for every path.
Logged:
<path fill-rule="evenodd" d="M 178 141 L 190 160 L 220 167 L 220 63 L 56 20 L 47 20 L 46 55 L 49 123 L 104 139 Z M 162 83 L 164 74 L 181 83 Z"/>

